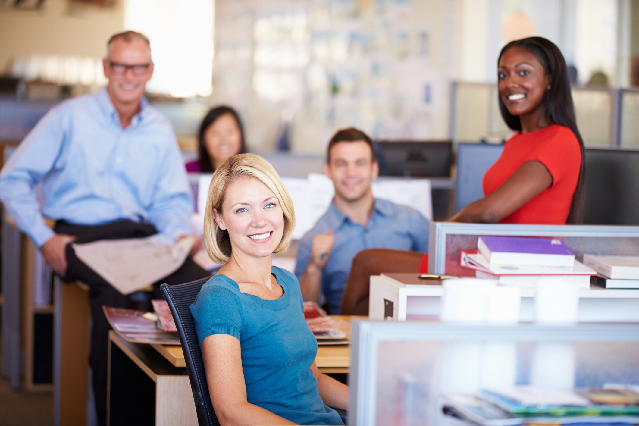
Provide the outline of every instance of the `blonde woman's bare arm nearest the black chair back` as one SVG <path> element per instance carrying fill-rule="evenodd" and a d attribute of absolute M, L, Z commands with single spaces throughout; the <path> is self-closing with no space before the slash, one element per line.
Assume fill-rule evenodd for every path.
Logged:
<path fill-rule="evenodd" d="M 250 404 L 242 370 L 240 340 L 214 334 L 202 341 L 208 392 L 222 426 L 295 425 L 283 417 Z"/>

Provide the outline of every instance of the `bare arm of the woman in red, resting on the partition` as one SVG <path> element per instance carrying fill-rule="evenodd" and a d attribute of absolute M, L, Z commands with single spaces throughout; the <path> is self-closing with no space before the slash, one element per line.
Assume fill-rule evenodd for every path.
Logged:
<path fill-rule="evenodd" d="M 552 185 L 553 177 L 538 161 L 527 161 L 488 197 L 468 204 L 449 222 L 495 224 Z"/>

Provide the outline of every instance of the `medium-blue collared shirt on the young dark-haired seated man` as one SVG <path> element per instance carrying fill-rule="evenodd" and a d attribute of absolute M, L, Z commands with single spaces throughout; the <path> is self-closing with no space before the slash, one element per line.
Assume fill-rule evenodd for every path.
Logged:
<path fill-rule="evenodd" d="M 297 249 L 295 275 L 298 280 L 311 261 L 314 236 L 333 231 L 335 244 L 321 274 L 320 301 L 328 301 L 330 314 L 339 314 L 346 278 L 353 257 L 367 248 L 428 251 L 428 221 L 418 211 L 393 202 L 375 199 L 373 213 L 366 226 L 355 224 L 331 202 L 328 211 L 307 232 Z"/>

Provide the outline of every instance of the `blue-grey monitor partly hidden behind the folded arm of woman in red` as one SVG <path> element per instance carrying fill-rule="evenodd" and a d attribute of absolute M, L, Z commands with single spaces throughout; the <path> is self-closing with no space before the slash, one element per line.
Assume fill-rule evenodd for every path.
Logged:
<path fill-rule="evenodd" d="M 457 144 L 457 178 L 455 213 L 484 197 L 484 173 L 495 164 L 504 145 L 459 142 Z"/>

